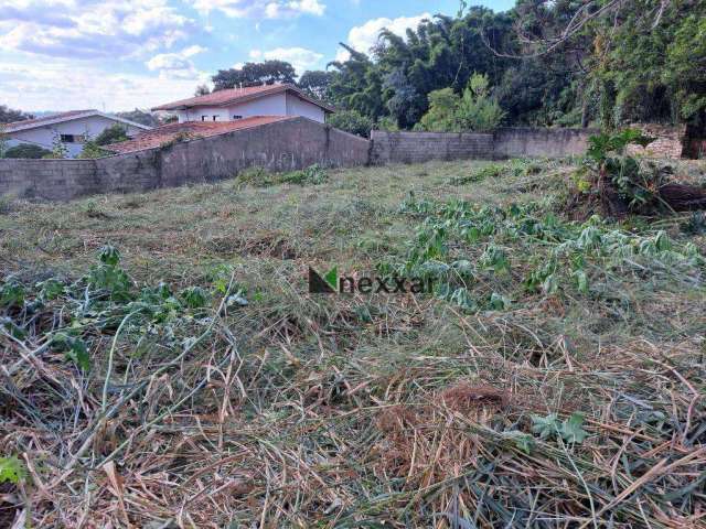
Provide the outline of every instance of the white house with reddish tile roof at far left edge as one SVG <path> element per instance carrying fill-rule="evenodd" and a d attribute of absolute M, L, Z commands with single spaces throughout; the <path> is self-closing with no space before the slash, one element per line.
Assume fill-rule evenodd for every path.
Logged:
<path fill-rule="evenodd" d="M 2 126 L 2 133 L 8 138 L 8 147 L 29 143 L 51 151 L 55 142 L 61 142 L 68 156 L 75 158 L 86 141 L 116 123 L 125 128 L 129 138 L 150 129 L 141 123 L 90 109 L 6 123 Z"/>

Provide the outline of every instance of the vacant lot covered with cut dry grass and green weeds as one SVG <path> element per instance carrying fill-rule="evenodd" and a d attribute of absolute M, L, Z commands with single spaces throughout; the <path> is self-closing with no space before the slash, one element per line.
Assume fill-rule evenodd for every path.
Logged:
<path fill-rule="evenodd" d="M 573 171 L 1 202 L 0 526 L 700 527 L 706 223 L 573 220 Z"/>

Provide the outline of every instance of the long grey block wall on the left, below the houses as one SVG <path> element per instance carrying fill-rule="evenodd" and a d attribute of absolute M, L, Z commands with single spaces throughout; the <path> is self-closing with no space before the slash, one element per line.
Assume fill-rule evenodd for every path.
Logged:
<path fill-rule="evenodd" d="M 371 142 L 306 118 L 99 160 L 0 160 L 0 195 L 68 201 L 232 177 L 249 166 L 366 164 Z"/>

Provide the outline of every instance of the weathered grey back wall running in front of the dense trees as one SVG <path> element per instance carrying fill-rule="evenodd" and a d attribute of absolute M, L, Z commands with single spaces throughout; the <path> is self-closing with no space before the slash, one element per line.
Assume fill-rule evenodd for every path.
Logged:
<path fill-rule="evenodd" d="M 492 133 L 373 131 L 373 163 L 563 158 L 582 154 L 596 129 L 503 128 Z"/>

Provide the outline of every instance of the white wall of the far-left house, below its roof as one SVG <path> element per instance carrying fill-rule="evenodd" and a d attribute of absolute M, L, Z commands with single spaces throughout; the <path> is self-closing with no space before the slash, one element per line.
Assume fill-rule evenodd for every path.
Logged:
<path fill-rule="evenodd" d="M 14 147 L 20 143 L 31 143 L 39 145 L 47 150 L 52 150 L 54 145 L 54 138 L 60 134 L 74 134 L 82 136 L 87 134 L 88 138 L 95 138 L 108 127 L 111 127 L 117 121 L 114 121 L 101 116 L 90 116 L 87 118 L 73 119 L 71 121 L 63 121 L 61 123 L 52 123 L 44 127 L 38 127 L 34 129 L 20 130 L 17 132 L 10 132 L 8 147 Z M 132 127 L 126 123 L 122 126 L 127 129 L 128 136 L 132 137 L 142 129 Z M 68 156 L 76 158 L 84 148 L 83 143 L 64 143 Z"/>

